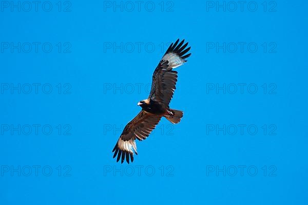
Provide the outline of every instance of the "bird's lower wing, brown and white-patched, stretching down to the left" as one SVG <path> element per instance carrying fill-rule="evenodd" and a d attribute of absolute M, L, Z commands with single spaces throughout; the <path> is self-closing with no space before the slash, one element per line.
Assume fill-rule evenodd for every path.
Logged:
<path fill-rule="evenodd" d="M 161 116 L 153 115 L 141 110 L 140 113 L 134 117 L 125 127 L 112 152 L 113 158 L 118 155 L 117 162 L 121 158 L 121 163 L 126 159 L 129 163 L 133 161 L 133 151 L 137 153 L 137 146 L 135 140 L 146 139 L 155 126 L 159 123 Z M 122 156 L 122 157 L 121 157 Z"/>

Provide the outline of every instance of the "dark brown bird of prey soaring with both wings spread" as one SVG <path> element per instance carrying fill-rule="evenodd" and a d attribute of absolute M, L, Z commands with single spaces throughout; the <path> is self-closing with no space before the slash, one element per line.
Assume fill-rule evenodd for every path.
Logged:
<path fill-rule="evenodd" d="M 183 65 L 191 53 L 186 54 L 190 47 L 184 40 L 179 43 L 171 43 L 163 58 L 156 67 L 153 77 L 150 95 L 147 99 L 138 102 L 142 107 L 140 113 L 132 119 L 125 127 L 112 152 L 113 158 L 117 155 L 117 162 L 121 158 L 121 163 L 126 159 L 133 161 L 133 151 L 137 153 L 135 140 L 146 139 L 162 117 L 171 123 L 179 123 L 183 117 L 183 111 L 169 108 L 169 103 L 174 95 L 178 72 L 173 70 Z"/>

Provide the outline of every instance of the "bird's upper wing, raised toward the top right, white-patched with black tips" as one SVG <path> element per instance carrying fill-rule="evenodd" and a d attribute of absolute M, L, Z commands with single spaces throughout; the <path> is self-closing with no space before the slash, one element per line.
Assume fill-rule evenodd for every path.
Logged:
<path fill-rule="evenodd" d="M 166 106 L 169 106 L 178 80 L 178 72 L 172 69 L 183 65 L 191 54 L 186 54 L 190 50 L 190 47 L 186 48 L 188 42 L 184 44 L 184 40 L 179 41 L 171 43 L 152 77 L 149 98 L 161 101 Z"/>

